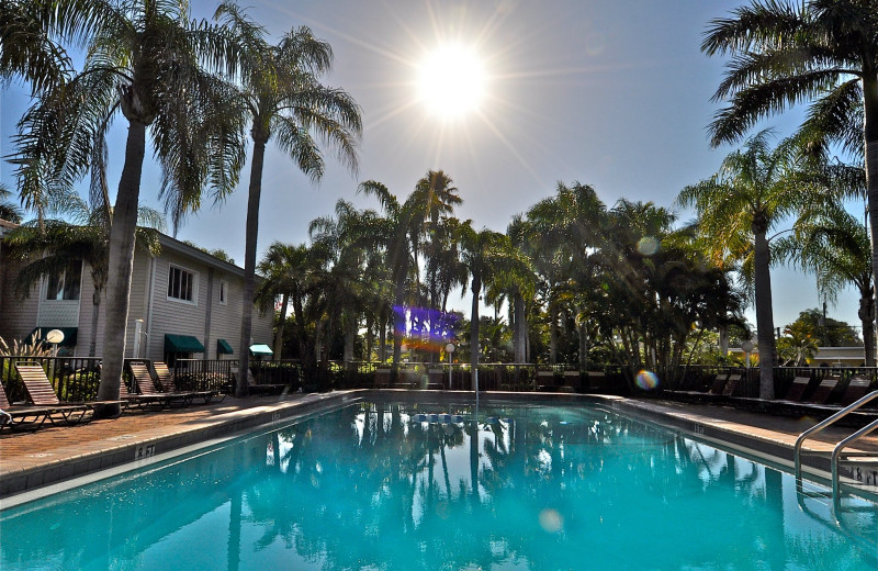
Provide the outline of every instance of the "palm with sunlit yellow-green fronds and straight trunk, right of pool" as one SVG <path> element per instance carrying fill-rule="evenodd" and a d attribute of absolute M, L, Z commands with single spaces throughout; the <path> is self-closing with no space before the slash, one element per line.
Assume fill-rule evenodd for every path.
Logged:
<path fill-rule="evenodd" d="M 750 138 L 723 159 L 716 175 L 686 187 L 677 197 L 679 205 L 695 206 L 698 233 L 713 262 L 741 261 L 745 273 L 753 276 L 762 399 L 774 399 L 773 367 L 777 366 L 767 233 L 802 203 L 793 148 L 785 143 L 772 149 L 769 137 L 766 130 Z"/>

